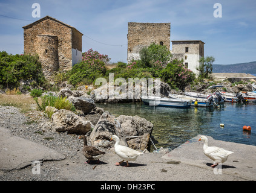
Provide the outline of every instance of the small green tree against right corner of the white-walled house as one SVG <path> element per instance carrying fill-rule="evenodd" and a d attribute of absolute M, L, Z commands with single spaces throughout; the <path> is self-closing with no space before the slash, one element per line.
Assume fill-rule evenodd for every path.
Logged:
<path fill-rule="evenodd" d="M 199 78 L 209 78 L 212 74 L 212 63 L 215 59 L 212 56 L 202 57 L 199 60 L 199 66 L 196 68 L 199 71 Z"/>

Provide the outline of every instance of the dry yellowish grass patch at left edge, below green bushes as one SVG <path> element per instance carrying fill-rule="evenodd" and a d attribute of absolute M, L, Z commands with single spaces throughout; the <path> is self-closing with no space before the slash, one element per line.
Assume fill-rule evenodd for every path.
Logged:
<path fill-rule="evenodd" d="M 36 102 L 30 95 L 7 95 L 0 94 L 0 105 L 1 106 L 13 106 L 21 109 L 22 113 L 26 113 L 33 110 L 33 106 L 36 106 Z"/>

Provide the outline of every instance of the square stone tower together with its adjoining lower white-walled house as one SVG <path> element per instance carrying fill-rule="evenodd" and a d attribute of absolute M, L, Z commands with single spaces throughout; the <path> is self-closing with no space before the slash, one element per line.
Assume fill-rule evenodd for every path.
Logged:
<path fill-rule="evenodd" d="M 171 23 L 134 23 L 128 22 L 127 62 L 140 59 L 140 49 L 151 43 L 165 45 L 170 49 Z M 181 40 L 172 42 L 172 60 L 183 60 L 183 64 L 199 74 L 197 66 L 204 57 L 204 45 L 201 40 Z"/>

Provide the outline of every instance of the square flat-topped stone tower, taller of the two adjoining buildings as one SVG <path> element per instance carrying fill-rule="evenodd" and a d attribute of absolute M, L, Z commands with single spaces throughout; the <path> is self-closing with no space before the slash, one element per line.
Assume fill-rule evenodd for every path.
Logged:
<path fill-rule="evenodd" d="M 139 52 L 151 43 L 165 45 L 170 49 L 171 23 L 128 22 L 127 61 L 140 58 Z"/>

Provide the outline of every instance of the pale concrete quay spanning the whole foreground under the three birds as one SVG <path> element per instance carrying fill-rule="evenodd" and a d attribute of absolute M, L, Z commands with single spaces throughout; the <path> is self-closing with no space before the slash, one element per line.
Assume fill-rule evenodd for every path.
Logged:
<path fill-rule="evenodd" d="M 203 142 L 196 136 L 167 154 L 145 153 L 130 167 L 116 166 L 120 161 L 113 148 L 106 151 L 99 165 L 67 159 L 62 153 L 42 144 L 19 138 L 0 127 L 0 179 L 2 180 L 113 180 L 113 181 L 248 181 L 256 180 L 256 146 L 217 141 L 208 137 L 209 146 L 234 151 L 218 168 L 203 154 Z M 33 160 L 41 160 L 41 175 L 31 173 Z M 48 162 L 45 162 L 48 160 Z M 29 167 L 28 167 L 29 166 Z M 96 168 L 97 166 L 97 168 Z M 52 172 L 48 168 L 53 169 Z M 50 171 L 51 171 L 50 169 Z M 110 172 L 111 171 L 111 172 Z M 215 175 L 222 174 L 222 175 Z M 25 176 L 25 177 L 24 177 Z"/>

